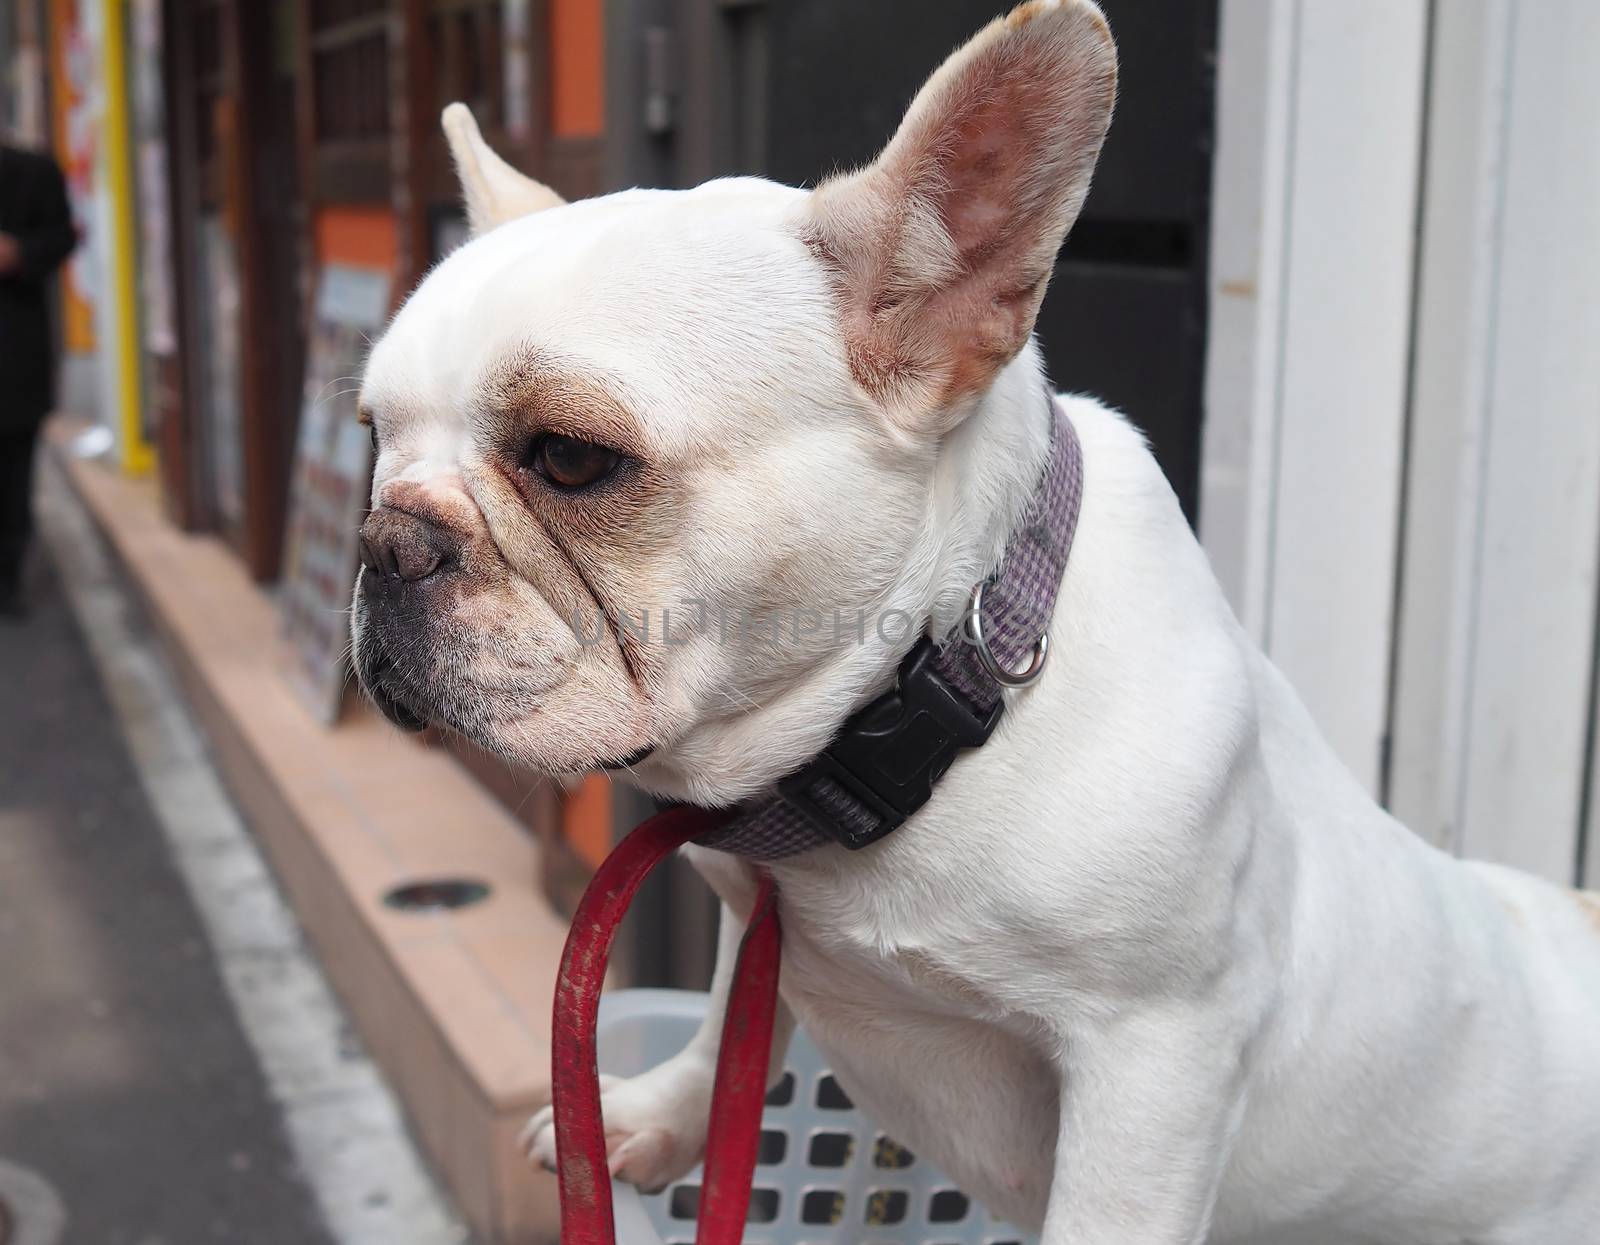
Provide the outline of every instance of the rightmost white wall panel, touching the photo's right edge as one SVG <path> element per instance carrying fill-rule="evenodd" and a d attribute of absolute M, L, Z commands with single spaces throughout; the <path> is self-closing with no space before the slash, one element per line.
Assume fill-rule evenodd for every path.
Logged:
<path fill-rule="evenodd" d="M 1462 847 L 1571 882 L 1600 568 L 1600 5 L 1509 30 Z"/>

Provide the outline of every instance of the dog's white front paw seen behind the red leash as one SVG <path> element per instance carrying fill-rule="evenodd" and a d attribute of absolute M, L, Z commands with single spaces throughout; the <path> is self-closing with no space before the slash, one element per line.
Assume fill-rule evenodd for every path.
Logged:
<path fill-rule="evenodd" d="M 642 1077 L 600 1077 L 600 1112 L 611 1175 L 645 1192 L 688 1175 L 706 1155 L 710 1077 L 662 1064 Z M 539 1111 L 522 1130 L 528 1157 L 555 1171 L 555 1115 Z"/>

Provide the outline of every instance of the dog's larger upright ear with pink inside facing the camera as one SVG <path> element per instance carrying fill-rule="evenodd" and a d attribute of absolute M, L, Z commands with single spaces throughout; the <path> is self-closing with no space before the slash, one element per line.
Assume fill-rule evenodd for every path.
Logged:
<path fill-rule="evenodd" d="M 1029 0 L 939 67 L 877 163 L 813 194 L 850 370 L 906 430 L 944 432 L 1027 342 L 1115 94 L 1101 11 Z"/>

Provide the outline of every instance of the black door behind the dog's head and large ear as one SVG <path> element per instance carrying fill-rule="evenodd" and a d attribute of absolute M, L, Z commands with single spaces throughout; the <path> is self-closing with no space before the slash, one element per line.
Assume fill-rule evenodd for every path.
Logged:
<path fill-rule="evenodd" d="M 1216 0 L 1101 0 L 1122 90 L 1038 320 L 1056 387 L 1149 435 L 1184 512 L 1200 474 Z M 613 186 L 869 162 L 1005 0 L 611 0 Z"/>

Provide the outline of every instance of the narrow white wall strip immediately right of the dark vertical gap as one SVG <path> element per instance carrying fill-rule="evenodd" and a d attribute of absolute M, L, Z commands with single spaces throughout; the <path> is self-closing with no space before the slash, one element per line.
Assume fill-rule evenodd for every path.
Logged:
<path fill-rule="evenodd" d="M 1512 3 L 1437 6 L 1429 74 L 1389 807 L 1448 848 L 1461 840 Z"/>

